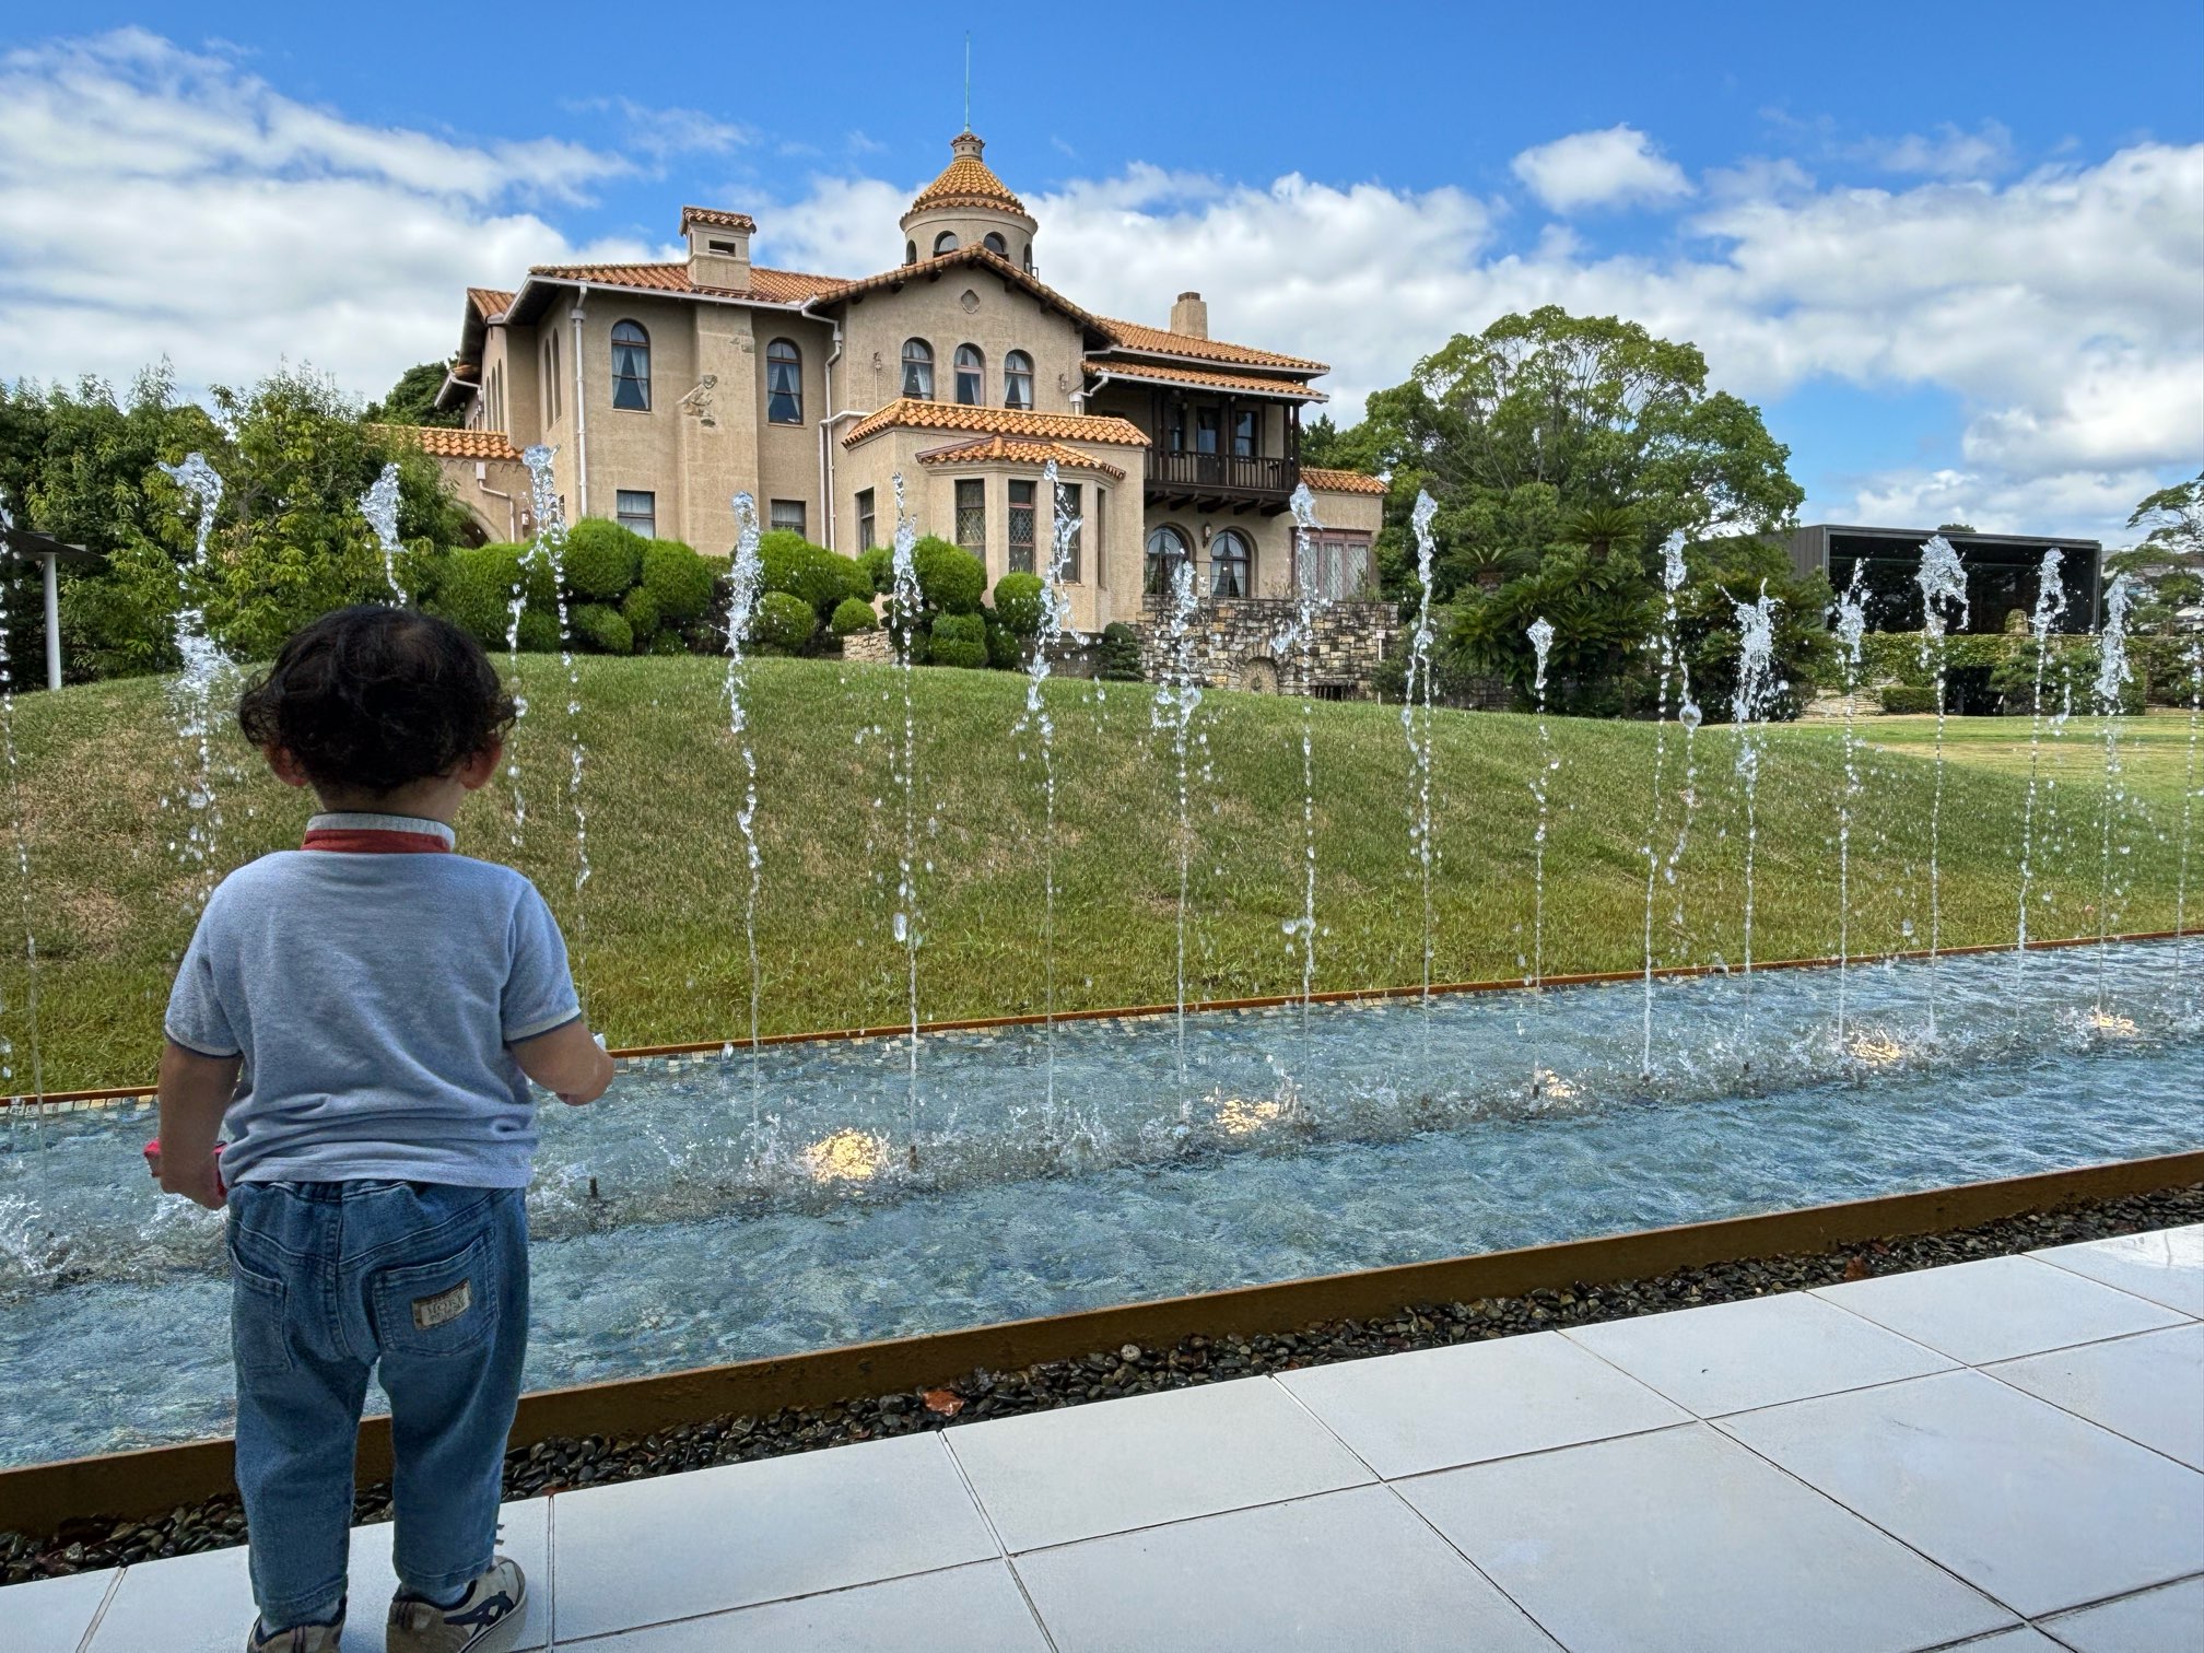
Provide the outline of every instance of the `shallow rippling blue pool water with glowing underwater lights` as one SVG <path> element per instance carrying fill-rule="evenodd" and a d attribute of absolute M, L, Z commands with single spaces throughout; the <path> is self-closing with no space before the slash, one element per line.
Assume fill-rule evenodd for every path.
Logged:
<path fill-rule="evenodd" d="M 2204 1146 L 2204 946 L 633 1065 L 544 1111 L 529 1384 Z M 1054 1095 L 1051 1095 L 1054 1067 Z M 0 1463 L 225 1433 L 141 1109 L 0 1153 Z"/>

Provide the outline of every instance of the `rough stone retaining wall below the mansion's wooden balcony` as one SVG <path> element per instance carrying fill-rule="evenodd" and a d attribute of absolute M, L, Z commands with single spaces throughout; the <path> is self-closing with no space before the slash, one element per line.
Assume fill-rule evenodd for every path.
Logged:
<path fill-rule="evenodd" d="M 1135 622 L 1139 670 L 1162 681 L 1166 599 L 1148 597 Z M 1316 613 L 1314 644 L 1278 648 L 1278 633 L 1294 624 L 1294 604 L 1283 597 L 1214 597 L 1195 611 L 1192 672 L 1201 688 L 1252 690 L 1256 694 L 1316 692 L 1329 699 L 1369 699 L 1371 674 L 1384 661 L 1400 619 L 1389 602 L 1333 602 Z M 1307 683 L 1303 661 L 1307 659 Z"/>

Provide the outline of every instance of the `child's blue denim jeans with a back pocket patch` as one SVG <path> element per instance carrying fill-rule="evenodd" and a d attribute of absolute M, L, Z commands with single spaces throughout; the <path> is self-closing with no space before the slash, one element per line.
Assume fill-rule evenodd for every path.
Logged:
<path fill-rule="evenodd" d="M 489 1567 L 529 1340 L 518 1188 L 403 1181 L 229 1190 L 238 1490 L 271 1631 L 344 1600 L 353 1444 L 381 1362 L 401 1589 L 447 1602 Z"/>

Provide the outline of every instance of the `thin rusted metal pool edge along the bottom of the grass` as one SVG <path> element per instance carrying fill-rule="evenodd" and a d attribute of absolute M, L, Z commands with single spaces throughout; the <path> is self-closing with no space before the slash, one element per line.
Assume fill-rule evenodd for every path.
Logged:
<path fill-rule="evenodd" d="M 2200 937 L 2204 930 L 2182 928 L 2182 930 L 2136 930 L 2127 934 L 2072 934 L 2072 937 L 2039 937 L 2025 943 L 2025 952 L 2056 952 L 2059 948 L 2098 948 L 2109 943 L 2129 941 L 2182 941 L 2186 937 Z M 1754 970 L 1832 970 L 1838 963 L 1851 963 L 1854 968 L 1867 970 L 1880 963 L 1922 963 L 1926 959 L 1966 959 L 1984 952 L 2012 952 L 2010 941 L 1981 941 L 1966 948 L 1911 948 L 1906 952 L 1876 952 L 1860 959 L 1759 959 Z M 1646 972 L 1640 970 L 1587 970 L 1569 976 L 1545 976 L 1538 987 L 1602 987 L 1622 981 L 1644 981 L 1651 974 L 1655 981 L 1688 981 L 1699 976 L 1735 976 L 1737 970 L 1728 965 L 1657 965 Z M 1320 994 L 1309 994 L 1311 1005 L 1373 1005 L 1402 998 L 1422 998 L 1424 994 L 1433 998 L 1455 998 L 1461 994 L 1497 994 L 1497 992 L 1534 992 L 1532 983 L 1521 976 L 1499 976 L 1494 981 L 1435 981 L 1430 987 L 1336 987 Z M 1300 994 L 1263 994 L 1258 998 L 1203 998 L 1199 1003 L 1188 1003 L 1186 1014 L 1217 1014 L 1232 1009 L 1285 1009 L 1287 1005 L 1298 1005 Z M 919 1038 L 932 1038 L 934 1034 L 985 1034 L 996 1027 L 1040 1027 L 1045 1023 L 1115 1023 L 1115 1020 L 1148 1020 L 1155 1016 L 1173 1016 L 1177 1005 L 1115 1005 L 1111 1009 L 1058 1009 L 1054 1016 L 1023 1014 L 1023 1016 L 968 1016 L 963 1020 L 941 1020 L 941 1023 L 919 1023 Z M 835 1045 L 853 1042 L 864 1038 L 901 1038 L 910 1031 L 910 1023 L 890 1023 L 882 1027 L 827 1027 L 804 1034 L 765 1034 L 758 1038 L 763 1047 L 778 1045 Z M 725 1040 L 705 1038 L 692 1040 L 688 1045 L 626 1045 L 615 1049 L 613 1056 L 622 1060 L 646 1060 L 652 1056 L 710 1056 L 712 1051 L 749 1049 L 747 1038 Z M 101 1102 L 139 1102 L 150 1098 L 154 1087 L 150 1084 L 117 1084 L 108 1089 L 93 1091 L 44 1091 L 37 1095 L 0 1095 L 0 1113 L 9 1109 L 60 1109 L 60 1106 L 88 1106 Z"/>

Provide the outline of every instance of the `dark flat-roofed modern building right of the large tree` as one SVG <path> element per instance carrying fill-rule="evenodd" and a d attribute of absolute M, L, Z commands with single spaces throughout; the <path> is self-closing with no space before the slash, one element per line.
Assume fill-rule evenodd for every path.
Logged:
<path fill-rule="evenodd" d="M 1871 529 L 1847 522 L 1814 522 L 1792 531 L 1792 564 L 1798 573 L 1825 573 L 1838 593 L 1851 586 L 1856 566 L 1867 564 L 1867 624 L 1871 630 L 1920 630 L 1922 593 L 1913 584 L 1922 542 L 1937 529 Z M 2098 540 L 2048 540 L 2036 533 L 1944 533 L 1966 569 L 1966 630 L 1997 633 L 2019 608 L 2032 615 L 2043 571 L 2043 553 L 2059 551 L 2059 584 L 2065 615 L 2059 630 L 2096 630 L 2103 591 L 2105 547 Z"/>

